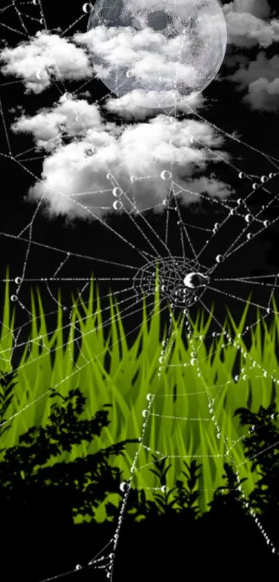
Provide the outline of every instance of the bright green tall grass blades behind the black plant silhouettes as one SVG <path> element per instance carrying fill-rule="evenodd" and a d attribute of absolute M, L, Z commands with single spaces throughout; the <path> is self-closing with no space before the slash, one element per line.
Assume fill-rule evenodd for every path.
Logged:
<path fill-rule="evenodd" d="M 8 271 L 7 271 L 8 273 Z M 8 274 L 7 274 L 8 279 Z M 2 316 L 0 336 L 0 370 L 8 373 L 12 370 L 10 357 L 12 354 L 12 329 L 15 323 L 15 311 L 10 310 L 10 292 L 6 284 L 5 305 Z M 109 418 L 109 427 L 104 429 L 102 437 L 82 446 L 74 446 L 71 454 L 65 454 L 57 461 L 72 461 L 77 456 L 93 454 L 98 448 L 116 443 L 125 438 L 137 438 L 141 435 L 144 422 L 142 412 L 147 408 L 146 396 L 156 393 L 152 406 L 152 416 L 147 425 L 144 445 L 150 451 L 141 449 L 135 470 L 133 486 L 147 489 L 147 499 L 152 499 L 152 488 L 158 487 L 156 476 L 150 472 L 152 468 L 152 453 L 170 454 L 172 467 L 168 472 L 167 486 L 172 487 L 177 479 L 181 479 L 183 459 L 188 463 L 197 459 L 202 464 L 202 478 L 199 481 L 201 495 L 199 506 L 206 511 L 208 502 L 213 498 L 213 491 L 222 485 L 224 461 L 231 461 L 226 456 L 224 440 L 217 438 L 213 422 L 203 420 L 210 418 L 208 412 L 208 396 L 215 398 L 215 416 L 222 434 L 231 443 L 231 454 L 235 463 L 240 465 L 240 477 L 247 477 L 244 490 L 248 494 L 253 489 L 257 476 L 251 474 L 251 463 L 245 461 L 242 439 L 247 429 L 239 426 L 239 419 L 233 417 L 235 409 L 247 406 L 250 402 L 252 411 L 258 411 L 260 404 L 268 406 L 273 394 L 272 379 L 269 373 L 278 368 L 276 359 L 276 344 L 278 342 L 279 319 L 274 307 L 273 323 L 270 327 L 260 320 L 251 330 L 251 347 L 248 349 L 244 340 L 239 337 L 237 343 L 242 346 L 262 368 L 252 366 L 249 355 L 241 353 L 240 366 L 244 368 L 246 379 L 235 382 L 233 366 L 237 357 L 237 343 L 228 344 L 224 336 L 211 342 L 198 339 L 210 332 L 211 315 L 205 321 L 204 314 L 199 314 L 192 322 L 194 329 L 193 343 L 197 348 L 197 359 L 201 368 L 201 377 L 197 377 L 195 366 L 183 366 L 190 363 L 190 350 L 183 341 L 183 321 L 185 316 L 173 321 L 174 349 L 168 359 L 161 377 L 158 377 L 159 357 L 162 350 L 159 339 L 161 318 L 160 298 L 157 290 L 154 295 L 152 316 L 147 317 L 145 298 L 143 298 L 143 320 L 138 330 L 138 336 L 132 347 L 127 344 L 120 309 L 113 296 L 110 296 L 111 326 L 109 337 L 105 339 L 102 325 L 100 297 L 91 280 L 89 301 L 84 304 L 73 298 L 73 314 L 71 322 L 78 324 L 81 350 L 73 363 L 73 326 L 67 327 L 69 334 L 66 343 L 62 332 L 62 308 L 57 311 L 57 327 L 53 334 L 46 328 L 44 309 L 37 289 L 37 305 L 31 290 L 32 330 L 18 368 L 17 385 L 14 388 L 15 397 L 8 406 L 5 418 L 13 417 L 0 439 L 0 449 L 17 445 L 19 435 L 33 426 L 45 425 L 53 403 L 48 395 L 51 388 L 57 389 L 62 395 L 72 388 L 80 387 L 87 397 L 87 418 L 93 416 L 103 404 L 113 405 Z M 95 306 L 95 307 L 94 307 Z M 245 327 L 247 304 L 242 320 L 238 325 L 228 314 L 226 329 L 233 337 L 240 336 Z M 83 311 L 83 314 L 82 314 Z M 41 337 L 40 337 L 41 336 Z M 166 336 L 166 334 L 165 334 Z M 262 341 L 264 338 L 264 342 Z M 262 344 L 264 348 L 262 348 Z M 52 365 L 50 350 L 55 348 L 55 359 Z M 111 357 L 110 370 L 105 369 L 105 354 L 109 350 Z M 192 348 L 191 348 L 192 351 Z M 267 377 L 264 377 L 267 370 Z M 174 401 L 174 386 L 177 399 Z M 0 387 L 1 389 L 1 387 Z M 187 393 L 194 395 L 188 396 Z M 278 394 L 274 398 L 278 404 Z M 33 403 L 35 401 L 35 403 Z M 33 404 L 31 404 L 33 403 Z M 21 413 L 19 413 L 21 411 Z M 158 415 L 158 416 L 157 416 Z M 177 418 L 199 418 L 199 420 L 179 420 Z M 137 445 L 126 447 L 125 458 L 113 459 L 111 464 L 123 470 L 123 479 L 129 478 L 129 467 L 136 452 Z M 218 455 L 218 456 L 217 456 Z M 173 457 L 172 457 L 173 456 Z M 2 457 L 3 458 L 3 453 Z M 54 462 L 54 461 L 53 461 Z M 51 463 L 49 463 L 51 464 Z M 149 489 L 150 488 L 150 489 Z M 114 496 L 115 497 L 115 496 Z M 113 496 L 112 496 L 113 499 Z M 112 500 L 111 499 L 111 500 Z M 100 519 L 104 517 L 104 508 L 100 507 Z"/>

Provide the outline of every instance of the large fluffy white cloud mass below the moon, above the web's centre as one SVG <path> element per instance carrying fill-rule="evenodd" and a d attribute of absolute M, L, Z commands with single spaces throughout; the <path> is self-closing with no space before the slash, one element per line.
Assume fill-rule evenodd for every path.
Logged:
<path fill-rule="evenodd" d="M 229 159 L 226 152 L 218 149 L 223 138 L 207 123 L 193 119 L 178 121 L 159 114 L 148 122 L 133 126 L 123 123 L 119 127 L 115 123 L 100 123 L 98 110 L 91 110 L 91 127 L 65 144 L 62 135 L 72 135 L 73 124 L 78 123 L 73 120 L 75 107 L 78 106 L 80 114 L 92 107 L 80 103 L 74 100 L 60 103 L 55 110 L 40 112 L 32 119 L 23 116 L 15 126 L 17 131 L 31 132 L 38 145 L 45 142 L 46 149 L 48 135 L 56 139 L 55 148 L 43 163 L 43 180 L 29 192 L 30 200 L 44 196 L 51 216 L 66 214 L 68 219 L 105 216 L 113 211 L 116 187 L 120 189 L 118 200 L 127 211 L 135 210 L 133 200 L 140 211 L 156 205 L 157 212 L 163 211 L 163 199 L 171 183 L 184 204 L 197 203 L 201 193 L 219 198 L 231 194 L 230 187 L 215 176 L 199 176 L 210 162 L 219 162 L 220 157 Z M 80 126 L 75 127 L 79 129 Z M 168 178 L 170 170 L 172 180 L 163 179 L 162 172 L 166 171 Z"/>

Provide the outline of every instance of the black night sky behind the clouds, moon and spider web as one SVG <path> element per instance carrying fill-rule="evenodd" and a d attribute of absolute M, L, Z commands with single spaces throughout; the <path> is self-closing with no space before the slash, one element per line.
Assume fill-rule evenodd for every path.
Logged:
<path fill-rule="evenodd" d="M 43 3 L 43 6 L 48 28 L 52 32 L 55 32 L 55 28 L 58 27 L 64 31 L 82 13 L 82 3 L 69 3 L 64 0 L 53 2 L 52 0 L 48 0 Z M 273 10 L 273 18 L 276 18 L 276 2 L 269 0 L 269 6 Z M 37 6 L 33 8 L 38 11 Z M 31 12 L 30 8 L 29 15 L 31 15 Z M 271 16 L 265 17 L 262 20 L 267 24 L 270 22 L 270 19 Z M 2 46 L 4 46 L 5 40 L 6 45 L 10 47 L 17 46 L 23 39 L 21 39 L 21 36 L 15 30 L 10 30 L 10 28 L 16 29 L 16 31 L 21 30 L 20 15 L 15 14 L 15 11 L 12 10 L 2 12 L 0 14 L 0 21 L 6 25 L 2 26 L 1 31 L 5 36 Z M 26 18 L 24 22 L 32 37 L 39 30 L 38 22 L 30 18 Z M 7 28 L 7 26 L 10 28 Z M 77 22 L 71 28 L 68 35 L 78 30 L 84 33 L 86 32 L 86 28 L 87 17 Z M 245 42 L 242 43 L 243 46 L 240 46 L 240 44 L 228 44 L 226 58 L 219 71 L 218 80 L 211 83 L 204 91 L 204 96 L 208 99 L 210 105 L 204 110 L 202 108 L 198 110 L 198 113 L 204 119 L 214 123 L 218 128 L 228 132 L 230 135 L 235 135 L 234 132 L 236 132 L 237 137 L 240 138 L 240 142 L 235 142 L 233 139 L 226 139 L 225 144 L 222 146 L 222 151 L 227 151 L 231 154 L 231 161 L 235 168 L 220 163 L 209 164 L 205 170 L 208 178 L 214 172 L 219 180 L 231 186 L 235 191 L 231 200 L 235 201 L 237 198 L 247 196 L 251 192 L 251 185 L 253 183 L 252 178 L 240 180 L 237 170 L 243 171 L 246 176 L 262 176 L 268 175 L 270 172 L 276 173 L 276 165 L 272 164 L 267 156 L 279 157 L 277 146 L 279 95 L 277 111 L 276 105 L 274 105 L 273 110 L 268 110 L 264 105 L 262 105 L 261 109 L 253 109 L 251 108 L 251 104 L 246 103 L 244 99 L 248 92 L 248 87 L 242 87 L 241 89 L 240 85 L 233 83 L 228 78 L 235 74 L 235 71 L 240 68 L 241 63 L 246 63 L 246 67 L 249 67 L 249 63 L 257 59 L 260 51 L 264 52 L 267 61 L 271 60 L 278 54 L 279 44 L 274 41 L 267 48 L 262 48 L 257 42 L 253 46 L 246 46 Z M 232 64 L 233 62 L 235 65 L 229 67 L 229 63 Z M 260 76 L 262 75 L 263 72 L 261 71 Z M 276 72 L 274 75 L 276 78 Z M 56 216 L 49 219 L 46 212 L 43 212 L 42 209 L 39 209 L 34 219 L 37 203 L 30 203 L 27 200 L 27 196 L 30 187 L 35 183 L 33 175 L 35 174 L 39 178 L 42 174 L 42 153 L 31 152 L 30 157 L 37 158 L 33 161 L 19 163 L 19 160 L 24 160 L 24 156 L 22 155 L 15 160 L 15 156 L 19 153 L 34 147 L 34 139 L 32 135 L 27 135 L 26 133 L 13 133 L 10 130 L 10 125 L 15 121 L 15 117 L 19 115 L 18 107 L 22 108 L 21 112 L 28 116 L 33 116 L 41 108 L 50 108 L 57 101 L 59 94 L 57 94 L 55 83 L 53 83 L 50 89 L 46 89 L 41 94 L 26 94 L 24 84 L 21 82 L 14 83 L 14 81 L 15 77 L 12 75 L 1 76 L 2 85 L 0 97 L 3 116 L 0 135 L 1 153 L 5 154 L 5 156 L 1 155 L 0 160 L 2 185 L 0 203 L 0 278 L 2 281 L 5 278 L 7 266 L 10 268 L 11 278 L 21 276 L 26 253 L 28 253 L 25 273 L 26 280 L 21 285 L 19 300 L 22 305 L 29 309 L 30 286 L 38 285 L 42 292 L 45 311 L 54 312 L 54 316 L 48 319 L 51 329 L 55 324 L 55 311 L 57 309 L 51 293 L 54 297 L 57 297 L 57 290 L 60 285 L 50 282 L 49 289 L 47 289 L 44 283 L 37 281 L 32 283 L 27 280 L 39 280 L 40 277 L 52 277 L 60 266 L 60 263 L 66 258 L 67 252 L 71 253 L 71 257 L 67 259 L 66 264 L 60 270 L 60 277 L 71 277 L 73 279 L 78 279 L 78 277 L 90 278 L 92 273 L 96 277 L 127 277 L 129 276 L 127 275 L 127 268 L 123 269 L 119 265 L 129 264 L 140 268 L 143 266 L 143 256 L 136 253 L 131 246 L 121 242 L 116 234 L 111 232 L 109 228 L 105 228 L 98 221 L 92 222 L 76 219 L 74 223 L 69 225 L 67 224 L 65 216 Z M 66 81 L 65 85 L 68 91 L 75 91 L 82 85 L 82 82 L 73 81 L 71 83 L 70 81 Z M 107 94 L 107 88 L 100 80 L 92 79 L 90 83 L 87 83 L 86 89 L 91 94 L 91 103 L 95 99 L 101 99 Z M 119 116 L 109 113 L 106 115 L 107 121 L 115 121 L 119 126 L 123 123 L 123 119 Z M 8 144 L 3 119 L 5 120 L 9 135 L 10 149 L 14 156 L 14 158 L 10 157 L 10 159 L 8 157 Z M 192 119 L 197 118 L 194 115 Z M 132 125 L 137 122 L 130 121 L 130 123 Z M 253 146 L 254 149 L 245 146 L 243 142 Z M 258 153 L 257 150 L 264 152 L 267 156 Z M 28 155 L 26 155 L 27 157 Z M 255 181 L 257 180 L 255 179 Z M 278 191 L 278 177 L 269 180 L 265 191 L 264 189 L 259 189 L 253 193 L 249 198 L 249 212 L 258 212 L 261 205 L 266 205 L 267 200 L 275 196 L 276 191 Z M 264 219 L 269 221 L 276 219 L 279 216 L 278 206 L 279 202 L 270 205 L 269 209 L 264 212 Z M 231 203 L 231 207 L 233 207 L 233 203 Z M 179 256 L 181 255 L 181 241 L 177 227 L 177 214 L 175 212 L 170 214 L 168 244 L 171 253 Z M 205 241 L 206 233 L 206 230 L 201 229 L 212 228 L 215 222 L 222 222 L 227 214 L 228 211 L 224 211 L 220 204 L 203 203 L 199 209 L 195 205 L 183 207 L 181 209 L 181 216 L 183 221 L 190 225 L 189 232 L 191 233 L 192 246 L 196 249 L 201 248 L 202 243 Z M 158 216 L 158 214 L 147 212 L 145 217 L 147 223 L 152 225 L 152 228 L 161 237 L 164 237 L 165 216 Z M 30 225 L 31 221 L 33 221 L 33 228 L 30 234 L 28 225 Z M 141 219 L 139 218 L 138 221 L 141 221 Z M 108 223 L 111 225 L 111 228 L 123 234 L 125 239 L 132 241 L 141 250 L 147 253 L 151 252 L 150 245 L 145 242 L 142 234 L 138 234 L 134 223 L 132 223 L 128 216 L 112 215 Z M 147 223 L 141 221 L 141 228 L 160 252 L 162 250 L 160 244 L 156 240 L 156 237 L 154 237 L 154 234 L 152 234 Z M 214 266 L 216 255 L 222 255 L 226 251 L 226 248 L 237 238 L 237 234 L 241 232 L 242 228 L 243 220 L 237 216 L 232 216 L 224 228 L 219 231 L 214 241 L 208 245 L 208 250 L 203 255 L 203 264 L 208 267 Z M 259 225 L 256 225 L 254 232 L 258 232 L 258 230 Z M 19 235 L 19 233 L 21 234 Z M 190 257 L 190 248 L 188 248 L 188 253 Z M 233 279 L 237 277 L 255 277 L 255 275 L 274 275 L 277 270 L 279 271 L 278 226 L 275 224 L 270 228 L 265 228 L 262 234 L 254 237 L 253 240 L 235 252 L 231 258 L 220 264 L 215 271 L 215 277 L 218 279 Z M 133 275 L 135 272 L 131 270 Z M 267 280 L 265 281 L 268 282 Z M 269 284 L 273 281 L 274 277 L 271 277 Z M 75 291 L 77 285 L 80 289 L 82 288 L 82 282 L 80 285 L 75 282 L 62 283 L 63 305 L 70 305 L 71 293 Z M 130 283 L 128 285 L 130 286 Z M 116 283 L 113 286 L 114 289 L 117 289 Z M 224 320 L 226 306 L 231 309 L 236 318 L 239 318 L 245 305 L 246 297 L 251 291 L 253 291 L 252 300 L 255 303 L 258 302 L 258 305 L 266 307 L 271 289 L 267 284 L 255 286 L 235 281 L 217 282 L 213 286 L 217 286 L 220 292 L 207 290 L 204 293 L 203 300 L 208 308 L 210 308 L 212 302 L 215 303 L 215 313 L 220 321 Z M 16 291 L 16 287 L 14 283 L 10 284 L 11 294 Z M 3 282 L 1 283 L 1 289 L 2 309 Z M 107 293 L 105 286 L 101 286 L 100 290 L 104 294 Z M 131 297 L 131 293 L 128 295 Z M 85 292 L 84 298 L 86 297 L 87 293 Z M 123 297 L 121 295 L 121 298 Z M 262 313 L 264 313 L 263 309 Z M 22 324 L 26 323 L 26 320 L 28 320 L 27 312 L 17 307 L 17 322 Z M 252 309 L 250 314 L 251 323 L 254 320 L 255 311 Z M 138 325 L 138 323 L 138 317 L 127 318 L 127 323 L 125 324 L 127 325 L 127 331 L 132 332 L 134 325 Z M 25 334 L 26 332 L 22 332 L 21 339 L 25 338 Z"/>

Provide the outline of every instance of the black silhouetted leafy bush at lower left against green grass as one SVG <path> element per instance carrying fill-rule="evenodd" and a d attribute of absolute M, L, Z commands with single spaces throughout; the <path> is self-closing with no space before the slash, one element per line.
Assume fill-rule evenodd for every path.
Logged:
<path fill-rule="evenodd" d="M 55 512 L 64 512 L 63 517 L 71 523 L 73 515 L 94 517 L 93 508 L 108 493 L 119 493 L 120 470 L 108 464 L 109 457 L 123 455 L 125 444 L 138 439 L 123 440 L 70 463 L 42 466 L 64 451 L 71 452 L 73 445 L 91 442 L 109 425 L 108 411 L 98 411 L 90 420 L 77 420 L 86 400 L 79 388 L 66 397 L 53 391 L 51 397 L 55 396 L 61 397 L 63 404 L 51 406 L 46 427 L 30 428 L 19 437 L 19 446 L 5 451 L 0 463 L 1 507 L 14 515 L 33 509 L 37 519 L 44 512 L 45 520 L 51 520 Z"/>

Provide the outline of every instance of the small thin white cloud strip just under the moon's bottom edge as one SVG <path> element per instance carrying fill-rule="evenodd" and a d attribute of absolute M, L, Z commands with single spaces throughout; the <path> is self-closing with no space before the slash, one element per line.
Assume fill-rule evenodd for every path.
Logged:
<path fill-rule="evenodd" d="M 131 91 L 118 99 L 109 97 L 104 108 L 108 112 L 116 113 L 126 120 L 143 120 L 146 117 L 152 117 L 152 115 L 155 114 L 153 108 L 146 107 L 148 99 L 151 99 L 154 102 L 156 100 L 160 102 L 160 99 L 162 99 L 162 92 L 147 92 L 145 89 L 134 89 L 134 91 Z M 165 92 L 163 99 L 168 101 L 168 92 Z M 179 103 L 177 103 L 177 111 L 189 113 L 189 106 L 193 112 L 204 108 L 206 106 L 206 98 L 201 94 L 184 97 L 179 101 Z M 161 112 L 163 112 L 163 109 L 158 108 L 156 110 L 156 114 Z"/>

